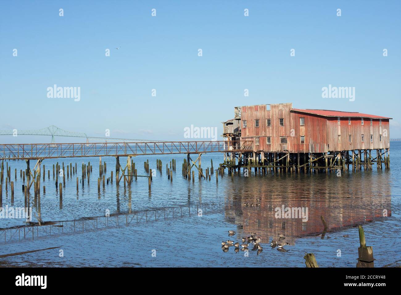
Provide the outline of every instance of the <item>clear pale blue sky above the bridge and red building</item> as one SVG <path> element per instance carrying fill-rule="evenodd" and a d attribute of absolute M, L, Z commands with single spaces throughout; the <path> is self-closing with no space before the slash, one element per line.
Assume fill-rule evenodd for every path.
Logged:
<path fill-rule="evenodd" d="M 292 102 L 389 116 L 401 137 L 400 20 L 399 0 L 1 1 L 0 129 L 183 140 L 221 134 L 235 106 Z M 80 101 L 48 98 L 54 84 Z M 355 100 L 322 98 L 329 84 Z M 0 136 L 20 141 L 50 138 Z"/>

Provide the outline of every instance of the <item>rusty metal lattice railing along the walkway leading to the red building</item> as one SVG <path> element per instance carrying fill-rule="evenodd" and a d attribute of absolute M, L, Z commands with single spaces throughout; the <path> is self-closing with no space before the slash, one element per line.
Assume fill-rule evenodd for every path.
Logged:
<path fill-rule="evenodd" d="M 0 144 L 0 160 L 252 151 L 252 141 Z"/>

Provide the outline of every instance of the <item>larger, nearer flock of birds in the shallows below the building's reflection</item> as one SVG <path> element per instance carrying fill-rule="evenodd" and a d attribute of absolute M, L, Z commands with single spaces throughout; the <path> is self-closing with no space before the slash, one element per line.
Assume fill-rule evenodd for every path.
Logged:
<path fill-rule="evenodd" d="M 234 236 L 235 235 L 235 231 L 233 230 L 229 230 L 228 231 L 228 235 Z M 289 243 L 284 242 L 284 234 L 279 234 L 279 238 L 278 238 L 278 242 L 275 240 L 272 240 L 270 242 L 271 248 L 275 248 L 277 247 L 277 250 L 281 251 L 281 252 L 287 252 L 288 250 L 284 249 L 283 247 L 286 245 L 289 245 Z M 241 251 L 245 251 L 248 249 L 248 246 L 250 244 L 253 244 L 253 249 L 252 250 L 257 250 L 257 254 L 259 255 L 260 252 L 262 252 L 263 247 L 260 245 L 260 238 L 261 236 L 257 236 L 257 234 L 255 234 L 254 232 L 251 232 L 251 235 L 249 237 L 246 238 L 242 238 L 242 244 L 240 244 L 239 242 L 234 242 L 231 240 L 227 240 L 222 241 L 221 242 L 221 250 L 223 250 L 223 252 L 227 252 L 229 250 L 229 248 L 231 246 L 234 246 L 234 251 L 237 253 L 239 251 L 239 247 L 241 246 Z M 269 242 L 269 241 L 267 241 Z"/>

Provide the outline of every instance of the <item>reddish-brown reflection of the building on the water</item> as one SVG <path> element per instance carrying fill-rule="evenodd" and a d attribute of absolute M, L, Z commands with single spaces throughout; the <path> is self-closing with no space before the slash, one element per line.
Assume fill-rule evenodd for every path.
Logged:
<path fill-rule="evenodd" d="M 276 178 L 264 184 L 255 178 L 248 180 L 251 179 L 254 181 L 249 185 L 245 183 L 246 187 L 240 187 L 241 192 L 227 206 L 226 217 L 227 221 L 237 224 L 237 232 L 248 236 L 251 232 L 260 234 L 262 243 L 267 242 L 268 238 L 270 241 L 277 239 L 280 233 L 286 235 L 286 242 L 290 244 L 302 236 L 321 234 L 324 230 L 321 216 L 327 224 L 328 232 L 380 220 L 385 218 L 383 210 L 387 210 L 387 216 L 391 216 L 389 185 L 381 183 L 380 177 L 374 183 L 370 179 L 363 181 L 371 183 L 371 186 L 357 187 L 351 184 L 347 187 L 333 187 L 333 177 L 324 177 L 296 189 L 292 183 L 283 187 L 284 179 L 280 181 Z M 270 192 L 264 192 L 266 187 Z M 244 205 L 256 204 L 256 198 L 261 198 L 259 206 Z M 282 205 L 308 208 L 308 221 L 303 222 L 302 218 L 275 218 L 275 208 L 282 208 Z"/>

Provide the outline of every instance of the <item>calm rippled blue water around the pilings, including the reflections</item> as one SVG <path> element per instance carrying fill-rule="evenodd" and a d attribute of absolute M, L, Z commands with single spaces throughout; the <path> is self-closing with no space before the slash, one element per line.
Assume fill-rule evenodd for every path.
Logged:
<path fill-rule="evenodd" d="M 344 173 L 342 177 L 337 177 L 335 173 L 315 173 L 235 176 L 234 179 L 226 173 L 224 177 L 219 177 L 218 183 L 215 175 L 212 175 L 211 181 L 198 181 L 197 176 L 194 183 L 184 179 L 181 176 L 184 155 L 174 156 L 177 171 L 173 172 L 172 183 L 167 178 L 165 166 L 173 157 L 134 157 L 138 175 L 145 175 L 143 163 L 146 159 L 149 159 L 151 169 L 156 169 L 156 158 L 163 161 L 162 173 L 157 171 L 153 177 L 151 193 L 145 177 L 138 177 L 126 188 L 122 183 L 115 185 L 114 180 L 98 193 L 98 158 L 59 159 L 59 163 L 64 162 L 65 165 L 77 162 L 78 171 L 81 170 L 82 161 L 91 161 L 93 165 L 89 186 L 85 179 L 84 187 L 80 185 L 78 193 L 77 175 L 66 177 L 62 204 L 52 176 L 52 166 L 57 160 L 45 160 L 42 165 L 46 166 L 46 177 L 45 181 L 41 180 L 41 186 L 46 186 L 46 194 L 41 192 L 40 206 L 37 204 L 35 208 L 31 188 L 32 222 L 37 222 L 38 218 L 42 222 L 56 222 L 55 225 L 64 221 L 64 226 L 48 226 L 47 230 L 52 230 L 51 236 L 50 233 L 46 236 L 45 229 L 38 230 L 41 232 L 34 232 L 32 240 L 31 232 L 24 239 L 21 228 L 20 236 L 18 228 L 15 229 L 16 226 L 26 225 L 24 219 L 0 219 L 0 228 L 14 228 L 11 238 L 8 237 L 10 231 L 6 231 L 4 237 L 4 231 L 0 230 L 0 255 L 49 247 L 61 248 L 1 258 L 0 265 L 304 267 L 304 254 L 313 252 L 321 267 L 355 267 L 359 246 L 358 229 L 355 226 L 358 224 L 363 224 L 367 244 L 373 246 L 375 266 L 395 265 L 396 261 L 401 260 L 401 142 L 391 142 L 390 155 L 389 171 L 377 171 L 374 166 L 373 171 Z M 213 159 L 216 168 L 223 161 L 223 155 L 203 155 L 204 170 L 210 167 L 210 159 Z M 107 163 L 108 177 L 115 168 L 115 158 L 103 157 L 102 160 Z M 125 161 L 120 157 L 122 165 Z M 12 203 L 10 186 L 6 192 L 3 183 L 3 207 L 24 207 L 19 171 L 25 169 L 26 164 L 9 161 L 8 165 L 11 166 L 15 195 Z M 30 167 L 34 165 L 34 161 L 31 161 Z M 14 178 L 15 168 L 17 179 Z M 48 169 L 51 170 L 50 179 L 47 177 Z M 261 199 L 260 202 L 257 198 Z M 260 205 L 246 206 L 246 203 Z M 281 208 L 282 205 L 308 208 L 308 221 L 275 218 L 275 208 Z M 175 208 L 174 218 L 172 207 Z M 182 212 L 180 207 L 183 208 Z M 196 214 L 196 208 L 202 208 L 202 216 Z M 157 209 L 156 221 L 154 212 L 144 211 L 152 209 Z M 106 210 L 110 210 L 111 214 L 107 228 L 105 218 L 98 219 L 97 228 L 94 219 L 89 223 L 82 221 L 82 218 L 104 216 Z M 385 217 L 383 210 L 387 210 Z M 118 227 L 115 226 L 117 215 Z M 318 236 L 323 231 L 321 216 L 328 225 L 324 239 Z M 132 218 L 129 226 L 124 226 L 126 218 Z M 73 220 L 76 220 L 75 233 L 71 225 Z M 237 234 L 229 237 L 228 230 L 235 230 Z M 243 251 L 235 252 L 234 247 L 230 247 L 228 252 L 222 251 L 222 240 L 241 242 L 241 237 L 249 236 L 251 232 L 262 236 L 262 252 L 253 251 L 252 247 L 249 256 L 245 256 Z M 279 233 L 285 234 L 285 241 L 290 243 L 285 247 L 288 252 L 280 252 L 267 244 L 272 239 L 278 240 Z M 345 238 L 344 235 L 349 237 Z M 63 250 L 63 257 L 59 256 L 60 249 Z M 341 256 L 337 256 L 338 250 Z M 152 253 L 156 253 L 156 256 L 152 256 Z"/>

